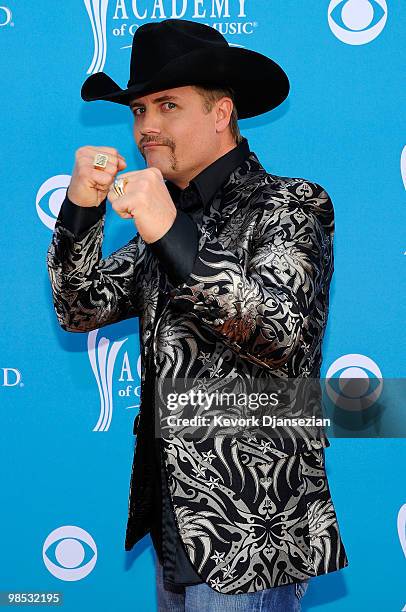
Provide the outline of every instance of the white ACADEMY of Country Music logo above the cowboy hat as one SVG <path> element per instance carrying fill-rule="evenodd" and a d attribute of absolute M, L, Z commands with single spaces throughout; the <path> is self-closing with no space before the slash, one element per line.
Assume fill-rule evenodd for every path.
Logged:
<path fill-rule="evenodd" d="M 223 36 L 250 35 L 258 26 L 247 18 L 248 0 L 83 0 L 92 28 L 94 52 L 87 74 L 101 72 L 107 57 L 107 33 L 128 40 L 144 22 L 162 19 L 196 19 Z M 230 46 L 244 45 L 227 41 Z"/>

